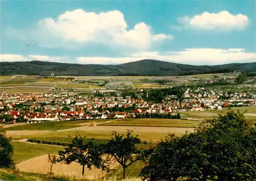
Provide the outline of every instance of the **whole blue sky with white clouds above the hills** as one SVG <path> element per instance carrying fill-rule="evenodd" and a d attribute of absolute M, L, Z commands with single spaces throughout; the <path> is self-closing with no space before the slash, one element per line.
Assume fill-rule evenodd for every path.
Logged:
<path fill-rule="evenodd" d="M 255 1 L 1 1 L 2 61 L 256 61 Z"/>

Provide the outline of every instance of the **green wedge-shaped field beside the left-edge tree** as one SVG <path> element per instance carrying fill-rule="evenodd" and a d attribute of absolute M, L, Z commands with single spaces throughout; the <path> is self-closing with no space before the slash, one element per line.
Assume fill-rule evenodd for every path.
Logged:
<path fill-rule="evenodd" d="M 61 150 L 59 146 L 23 142 L 12 142 L 12 146 L 14 148 L 13 159 L 16 164 L 40 155 L 57 153 L 58 150 Z"/>

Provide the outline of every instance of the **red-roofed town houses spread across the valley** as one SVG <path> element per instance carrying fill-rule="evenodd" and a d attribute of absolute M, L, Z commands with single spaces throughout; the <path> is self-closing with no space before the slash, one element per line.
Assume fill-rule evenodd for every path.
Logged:
<path fill-rule="evenodd" d="M 226 99 L 223 99 L 223 98 Z M 187 89 L 180 102 L 176 95 L 166 96 L 162 103 L 150 103 L 131 96 L 94 97 L 88 95 L 27 94 L 0 95 L 0 121 L 4 115 L 13 121 L 26 119 L 28 123 L 43 121 L 133 118 L 136 114 L 172 114 L 180 111 L 222 109 L 234 105 L 256 106 L 256 95 L 221 93 L 198 88 Z M 24 109 L 24 107 L 26 109 Z M 116 108 L 116 109 L 114 109 Z M 120 111 L 120 108 L 122 111 Z M 40 110 L 40 111 L 38 111 Z"/>

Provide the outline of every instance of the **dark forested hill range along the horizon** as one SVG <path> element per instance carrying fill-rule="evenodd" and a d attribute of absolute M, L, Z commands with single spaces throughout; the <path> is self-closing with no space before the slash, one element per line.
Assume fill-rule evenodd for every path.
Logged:
<path fill-rule="evenodd" d="M 158 60 L 140 60 L 119 65 L 71 64 L 45 61 L 0 62 L 0 75 L 79 76 L 175 76 L 233 71 L 256 72 L 256 62 L 223 65 L 187 65 Z"/>

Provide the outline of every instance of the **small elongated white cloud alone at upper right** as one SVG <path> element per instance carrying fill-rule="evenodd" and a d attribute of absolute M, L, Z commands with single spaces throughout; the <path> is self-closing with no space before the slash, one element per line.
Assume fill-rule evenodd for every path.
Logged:
<path fill-rule="evenodd" d="M 178 18 L 181 26 L 172 26 L 172 29 L 201 29 L 201 30 L 243 30 L 249 24 L 249 19 L 243 14 L 230 14 L 228 11 L 219 13 L 204 12 L 193 17 L 184 16 Z"/>

